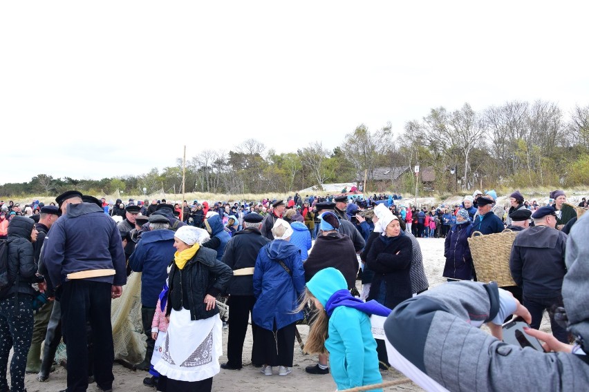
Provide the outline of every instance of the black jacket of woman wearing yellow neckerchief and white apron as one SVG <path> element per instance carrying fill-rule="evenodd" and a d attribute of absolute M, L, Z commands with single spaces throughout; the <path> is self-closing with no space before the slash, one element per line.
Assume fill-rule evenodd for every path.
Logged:
<path fill-rule="evenodd" d="M 172 263 L 169 274 L 169 306 L 190 311 L 190 320 L 203 320 L 219 313 L 218 306 L 207 311 L 205 296 L 216 297 L 225 290 L 232 277 L 231 268 L 216 259 L 216 252 L 202 246 L 180 270 Z"/>

